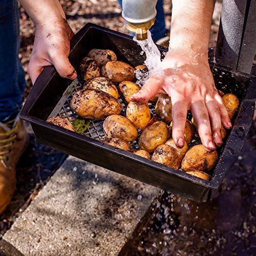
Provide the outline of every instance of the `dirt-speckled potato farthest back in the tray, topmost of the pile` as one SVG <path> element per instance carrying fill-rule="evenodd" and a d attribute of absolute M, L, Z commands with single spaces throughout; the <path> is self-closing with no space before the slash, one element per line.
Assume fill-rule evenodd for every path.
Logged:
<path fill-rule="evenodd" d="M 88 57 L 93 58 L 98 66 L 102 66 L 106 62 L 116 60 L 116 54 L 111 50 L 92 49 L 88 53 Z"/>

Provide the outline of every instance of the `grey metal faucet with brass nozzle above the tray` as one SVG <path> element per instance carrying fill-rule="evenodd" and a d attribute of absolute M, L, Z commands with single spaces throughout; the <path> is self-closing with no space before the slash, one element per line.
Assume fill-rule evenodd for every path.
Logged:
<path fill-rule="evenodd" d="M 126 28 L 136 34 L 137 40 L 147 39 L 147 30 L 154 25 L 157 0 L 122 0 L 122 16 Z"/>

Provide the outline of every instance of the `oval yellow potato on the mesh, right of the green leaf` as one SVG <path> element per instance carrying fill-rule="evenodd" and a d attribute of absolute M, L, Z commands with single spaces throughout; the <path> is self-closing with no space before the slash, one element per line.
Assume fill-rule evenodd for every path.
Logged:
<path fill-rule="evenodd" d="M 138 132 L 130 120 L 119 115 L 107 117 L 103 122 L 103 129 L 109 137 L 123 139 L 127 142 L 138 137 Z"/>

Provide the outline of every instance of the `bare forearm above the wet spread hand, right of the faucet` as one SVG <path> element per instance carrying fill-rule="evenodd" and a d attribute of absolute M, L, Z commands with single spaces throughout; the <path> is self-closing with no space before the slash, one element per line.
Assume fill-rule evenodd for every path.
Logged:
<path fill-rule="evenodd" d="M 215 0 L 173 0 L 170 49 L 206 52 Z"/>

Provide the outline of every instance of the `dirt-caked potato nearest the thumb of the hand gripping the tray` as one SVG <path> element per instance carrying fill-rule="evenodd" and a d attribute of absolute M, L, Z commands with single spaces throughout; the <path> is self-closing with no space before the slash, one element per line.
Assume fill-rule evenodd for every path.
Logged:
<path fill-rule="evenodd" d="M 80 62 L 80 74 L 84 81 L 100 76 L 100 69 L 94 59 L 89 57 L 82 58 Z"/>

